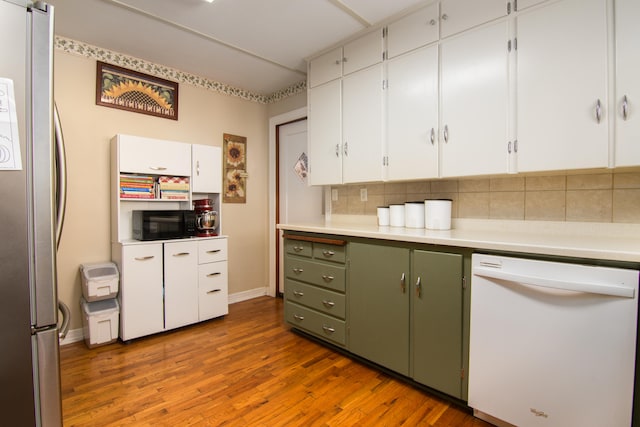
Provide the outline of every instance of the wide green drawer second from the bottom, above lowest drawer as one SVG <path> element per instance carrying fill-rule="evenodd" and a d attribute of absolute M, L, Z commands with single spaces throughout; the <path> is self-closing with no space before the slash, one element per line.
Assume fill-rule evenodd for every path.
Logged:
<path fill-rule="evenodd" d="M 289 279 L 285 280 L 284 289 L 287 301 L 295 301 L 298 304 L 331 316 L 345 318 L 346 302 L 344 294 Z"/>

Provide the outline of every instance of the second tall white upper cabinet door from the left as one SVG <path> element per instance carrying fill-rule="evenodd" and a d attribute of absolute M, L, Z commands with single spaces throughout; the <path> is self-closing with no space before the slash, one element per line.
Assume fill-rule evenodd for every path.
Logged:
<path fill-rule="evenodd" d="M 383 178 L 382 80 L 379 64 L 342 81 L 344 183 Z"/>

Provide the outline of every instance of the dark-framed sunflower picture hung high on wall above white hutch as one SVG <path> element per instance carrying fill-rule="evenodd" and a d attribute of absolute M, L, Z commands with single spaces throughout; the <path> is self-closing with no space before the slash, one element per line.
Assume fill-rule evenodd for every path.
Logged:
<path fill-rule="evenodd" d="M 96 104 L 178 120 L 178 83 L 97 61 Z"/>

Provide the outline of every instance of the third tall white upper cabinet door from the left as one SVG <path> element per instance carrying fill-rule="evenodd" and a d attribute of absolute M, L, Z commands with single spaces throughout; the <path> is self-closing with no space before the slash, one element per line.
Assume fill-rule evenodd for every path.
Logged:
<path fill-rule="evenodd" d="M 387 179 L 438 176 L 438 47 L 387 63 Z"/>

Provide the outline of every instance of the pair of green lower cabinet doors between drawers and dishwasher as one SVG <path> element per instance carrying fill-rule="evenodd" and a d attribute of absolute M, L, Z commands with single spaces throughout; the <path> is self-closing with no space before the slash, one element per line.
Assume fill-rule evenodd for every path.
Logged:
<path fill-rule="evenodd" d="M 463 252 L 349 245 L 349 351 L 466 400 Z"/>

